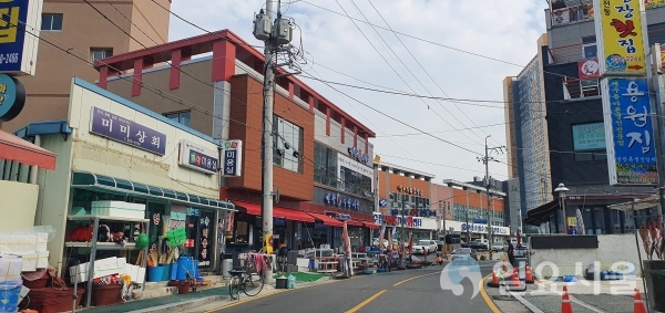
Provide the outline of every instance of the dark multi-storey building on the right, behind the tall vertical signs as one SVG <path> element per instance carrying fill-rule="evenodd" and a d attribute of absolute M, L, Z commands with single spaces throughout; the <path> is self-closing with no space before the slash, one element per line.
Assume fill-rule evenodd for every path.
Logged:
<path fill-rule="evenodd" d="M 577 209 L 589 233 L 633 231 L 625 215 L 607 206 L 653 194 L 652 187 L 610 185 L 600 77 L 597 66 L 589 67 L 597 65 L 593 12 L 592 1 L 551 2 L 535 58 L 503 82 L 521 212 L 536 227 L 528 231 L 564 232 Z M 663 3 L 647 6 L 646 21 L 649 42 L 665 42 Z M 554 192 L 560 184 L 570 189 L 565 218 Z"/>

